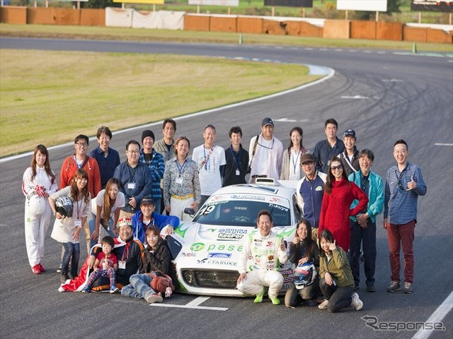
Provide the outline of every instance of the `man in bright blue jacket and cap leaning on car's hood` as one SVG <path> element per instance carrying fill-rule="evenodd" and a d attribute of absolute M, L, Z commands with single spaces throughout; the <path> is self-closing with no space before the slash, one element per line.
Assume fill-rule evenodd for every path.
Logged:
<path fill-rule="evenodd" d="M 134 238 L 139 239 L 143 244 L 147 244 L 145 233 L 149 225 L 156 225 L 159 230 L 166 227 L 166 234 L 172 234 L 173 230 L 179 226 L 179 218 L 175 215 L 161 215 L 154 212 L 156 203 L 151 196 L 145 196 L 140 203 L 140 210 L 132 215 L 132 230 Z"/>

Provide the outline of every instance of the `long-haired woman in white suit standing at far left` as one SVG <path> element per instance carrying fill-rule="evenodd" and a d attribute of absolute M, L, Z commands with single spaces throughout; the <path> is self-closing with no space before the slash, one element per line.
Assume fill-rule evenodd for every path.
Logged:
<path fill-rule="evenodd" d="M 27 246 L 28 263 L 35 274 L 45 272 L 41 263 L 44 259 L 45 234 L 50 224 L 50 204 L 47 198 L 57 191 L 55 173 L 50 169 L 49 152 L 45 145 L 35 147 L 31 164 L 23 174 L 22 191 L 25 196 L 37 194 L 45 201 L 41 214 L 32 213 L 25 201 L 25 245 Z"/>

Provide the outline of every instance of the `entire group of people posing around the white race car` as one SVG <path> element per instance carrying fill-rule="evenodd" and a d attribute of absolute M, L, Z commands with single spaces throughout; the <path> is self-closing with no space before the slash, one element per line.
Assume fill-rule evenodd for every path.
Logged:
<path fill-rule="evenodd" d="M 34 274 L 45 271 L 42 266 L 44 238 L 50 225 L 50 213 L 53 213 L 55 225 L 51 237 L 62 243 L 62 283 L 69 279 L 69 274 L 73 279 L 78 275 L 79 238 L 84 229 L 88 253 L 93 254 L 93 249 L 105 247 L 104 258 L 96 259 L 93 256 L 90 260 L 89 268 L 96 268 L 96 277 L 93 279 L 108 277 L 110 291 L 117 292 L 117 285 L 113 283 L 115 272 L 121 277 L 127 261 L 124 260 L 124 253 L 121 258 L 117 257 L 116 262 L 110 258 L 109 253 L 115 253 L 117 248 L 122 249 L 124 246 L 121 244 L 126 244 L 129 238 L 151 246 L 147 235 L 151 226 L 157 226 L 159 233 L 166 227 L 164 232 L 171 234 L 180 220 L 190 220 L 190 215 L 184 213 L 185 208 L 196 210 L 214 191 L 222 186 L 245 184 L 246 175 L 250 174 L 248 182 L 253 182 L 257 177 L 297 181 L 297 204 L 306 229 L 303 234 L 308 234 L 308 238 L 302 237 L 298 228 L 295 242 L 289 245 L 289 259 L 293 263 L 305 260 L 319 262 L 316 265 L 319 267 L 319 286 L 326 300 L 330 300 L 335 292 L 326 286 L 324 288 L 323 284 L 328 287 L 332 283 L 337 284 L 337 289 L 343 287 L 340 286 L 342 283 L 331 278 L 333 272 L 330 266 L 333 263 L 336 263 L 336 267 L 343 263 L 345 270 L 350 270 L 350 274 L 343 273 L 343 276 L 348 278 L 348 286 L 352 291 L 358 290 L 361 251 L 365 259 L 367 291 L 374 292 L 376 216 L 383 210 L 391 263 L 391 285 L 387 290 L 401 290 L 399 252 L 402 245 L 405 266 L 403 290 L 406 293 L 412 292 L 412 243 L 417 199 L 426 193 L 426 185 L 420 168 L 407 161 L 408 145 L 405 141 L 396 141 L 394 145 L 397 165 L 387 172 L 384 186 L 382 178 L 371 170 L 374 162 L 372 151 L 366 148 L 357 150 L 356 135 L 352 129 L 346 130 L 343 141 L 340 140 L 337 137 L 338 123 L 335 119 L 325 122 L 327 138 L 316 143 L 312 152 L 302 143 L 303 131 L 300 127 L 291 129 L 291 141 L 284 150 L 281 141 L 273 135 L 274 123 L 270 118 L 263 119 L 261 133 L 251 138 L 248 151 L 241 144 L 242 130 L 239 126 L 230 129 L 231 145 L 224 149 L 215 144 L 216 129 L 208 124 L 203 131 L 205 142 L 194 148 L 191 156 L 188 138 L 180 136 L 174 140 L 176 121 L 166 119 L 162 131 L 164 138 L 159 141 L 155 141 L 154 133 L 150 130 L 142 132 L 142 144 L 135 140 L 129 141 L 125 147 L 125 162 L 120 162 L 119 153 L 110 148 L 112 133 L 108 127 L 98 129 L 98 146 L 88 154 L 88 136 L 76 136 L 75 153 L 64 160 L 59 185 L 55 172 L 50 168 L 47 148 L 44 145 L 35 148 L 31 165 L 23 174 L 23 193 L 27 197 L 25 240 Z M 63 215 L 57 210 L 56 204 L 62 197 L 69 198 L 72 203 L 70 215 Z M 37 198 L 43 198 L 39 213 L 33 206 L 33 199 Z M 42 201 L 45 201 L 44 206 Z M 260 226 L 260 222 L 263 225 Z M 272 215 L 260 214 L 257 222 L 260 232 L 256 231 L 254 237 L 268 237 L 271 224 Z M 123 232 L 125 237 L 122 237 L 122 228 L 129 226 L 130 234 Z M 309 240 L 307 250 L 306 244 L 302 246 L 302 242 Z M 326 246 L 323 246 L 323 240 Z M 262 239 L 251 239 L 251 253 L 256 250 L 253 246 L 261 241 Z M 321 247 L 316 244 L 316 249 L 312 248 L 311 241 L 314 244 L 319 242 Z M 272 243 L 275 256 L 269 262 L 260 261 L 257 272 L 273 271 L 279 260 L 287 260 L 286 249 L 278 237 Z M 302 252 L 301 246 L 304 249 Z M 130 246 L 126 247 L 129 255 Z M 299 249 L 300 253 L 291 254 L 293 247 Z M 260 251 L 269 250 L 258 249 L 256 255 L 260 257 Z M 309 256 L 304 255 L 306 251 Z M 325 263 L 323 257 L 326 258 Z M 143 263 L 143 260 L 137 259 L 133 265 L 133 268 L 137 268 L 135 273 L 147 270 L 141 268 Z M 133 270 L 127 271 L 131 273 Z M 256 278 L 264 281 L 267 278 L 257 275 L 253 279 L 247 279 L 243 269 L 239 273 L 238 288 L 257 295 L 256 302 L 260 302 L 264 289 L 253 286 L 251 280 Z M 171 271 L 166 274 L 171 275 Z M 247 273 L 249 274 L 251 273 Z M 126 278 L 121 285 L 129 283 L 130 276 Z M 277 279 L 276 275 L 269 279 L 280 281 L 280 277 Z M 173 283 L 176 281 L 173 280 Z M 269 288 L 268 293 L 273 303 L 279 302 L 277 292 L 275 287 Z M 294 295 L 294 289 L 291 293 L 285 298 L 287 306 L 294 306 L 297 303 L 294 301 L 299 298 L 312 299 L 316 294 L 305 290 L 297 296 L 297 293 Z M 355 292 L 348 298 L 349 305 L 360 302 Z M 338 300 L 332 302 L 329 309 L 338 309 L 337 304 Z"/>

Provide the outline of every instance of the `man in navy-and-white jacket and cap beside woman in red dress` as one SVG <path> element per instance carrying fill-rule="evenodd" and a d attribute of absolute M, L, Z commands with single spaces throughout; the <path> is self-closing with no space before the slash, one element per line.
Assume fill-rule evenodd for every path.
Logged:
<path fill-rule="evenodd" d="M 297 182 L 297 205 L 311 223 L 311 237 L 316 241 L 327 175 L 316 169 L 314 155 L 309 151 L 302 155 L 300 162 L 305 175 Z"/>

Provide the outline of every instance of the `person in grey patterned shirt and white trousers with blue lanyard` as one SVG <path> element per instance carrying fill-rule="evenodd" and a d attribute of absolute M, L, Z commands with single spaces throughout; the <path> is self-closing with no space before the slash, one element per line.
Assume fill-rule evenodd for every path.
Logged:
<path fill-rule="evenodd" d="M 184 208 L 196 210 L 201 201 L 200 179 L 195 161 L 188 158 L 190 141 L 180 136 L 175 143 L 176 158 L 168 160 L 164 172 L 164 203 L 169 215 L 190 220 Z"/>

